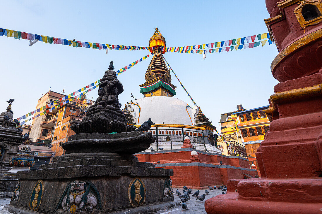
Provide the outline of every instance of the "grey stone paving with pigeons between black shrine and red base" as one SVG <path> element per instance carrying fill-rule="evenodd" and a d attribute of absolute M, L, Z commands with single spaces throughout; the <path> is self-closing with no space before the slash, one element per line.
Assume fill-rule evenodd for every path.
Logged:
<path fill-rule="evenodd" d="M 173 191 L 175 192 L 177 189 L 174 188 Z M 178 189 L 180 191 L 181 194 L 183 194 L 183 189 Z M 216 195 L 220 195 L 223 191 L 221 190 L 214 190 L 214 191 L 209 191 L 208 194 L 206 194 L 206 198 L 203 202 L 201 202 L 200 200 L 196 200 L 196 197 L 195 196 L 192 196 L 192 194 L 197 191 L 197 190 L 192 190 L 191 194 L 190 195 L 190 200 L 189 201 L 186 201 L 185 203 L 188 205 L 188 208 L 187 210 L 182 210 L 182 208 L 180 210 L 182 210 L 182 213 L 184 214 L 205 214 L 206 211 L 204 209 L 204 201 L 206 201 L 207 199 L 210 199 L 212 197 L 215 197 Z M 204 189 L 203 190 L 199 190 L 200 193 L 199 193 L 199 196 L 204 194 Z M 226 191 L 224 191 L 226 193 Z M 178 201 L 180 203 L 182 203 L 182 201 L 180 201 L 181 199 L 178 198 L 178 195 L 173 193 L 174 195 L 174 198 L 175 198 L 175 201 Z"/>

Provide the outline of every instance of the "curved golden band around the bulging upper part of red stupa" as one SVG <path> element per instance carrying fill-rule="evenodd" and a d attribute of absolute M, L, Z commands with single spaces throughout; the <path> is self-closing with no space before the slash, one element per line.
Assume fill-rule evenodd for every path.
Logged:
<path fill-rule="evenodd" d="M 286 56 L 289 56 L 291 53 L 296 51 L 298 48 L 303 47 L 308 43 L 320 38 L 322 38 L 322 29 L 309 33 L 308 35 L 305 35 L 304 37 L 293 42 L 291 45 L 279 52 L 279 54 L 275 57 L 272 64 L 270 65 L 270 70 L 273 71 L 275 66 L 279 64 L 280 61 L 282 61 Z"/>

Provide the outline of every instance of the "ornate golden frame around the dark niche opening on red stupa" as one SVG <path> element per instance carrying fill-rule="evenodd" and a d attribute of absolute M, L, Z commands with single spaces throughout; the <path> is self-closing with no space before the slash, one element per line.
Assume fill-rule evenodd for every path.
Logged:
<path fill-rule="evenodd" d="M 319 22 L 322 21 L 322 16 L 319 16 L 315 19 L 309 20 L 309 21 L 305 21 L 303 15 L 302 15 L 302 9 L 304 7 L 304 5 L 306 4 L 311 4 L 317 7 L 317 9 L 319 10 L 320 13 L 322 13 L 322 2 L 321 0 L 301 0 L 298 2 L 298 6 L 295 8 L 294 13 L 296 18 L 298 19 L 298 22 L 300 23 L 301 27 L 304 30 L 305 33 L 305 27 L 309 26 L 309 25 L 314 25 L 317 24 Z"/>

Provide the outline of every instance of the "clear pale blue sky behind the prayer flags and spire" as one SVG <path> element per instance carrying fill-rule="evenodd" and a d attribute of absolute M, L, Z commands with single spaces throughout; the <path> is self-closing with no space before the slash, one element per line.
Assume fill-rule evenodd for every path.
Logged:
<path fill-rule="evenodd" d="M 265 1 L 1 1 L 1 28 L 62 39 L 148 46 L 157 26 L 167 47 L 198 45 L 267 32 Z M 14 98 L 14 118 L 35 109 L 50 90 L 71 93 L 96 81 L 113 60 L 116 70 L 146 56 L 147 50 L 117 51 L 75 48 L 0 37 L 0 111 Z M 274 44 L 253 49 L 207 54 L 166 53 L 164 56 L 204 114 L 218 127 L 220 114 L 268 105 L 278 83 L 270 64 Z M 122 108 L 130 94 L 141 98 L 139 84 L 150 58 L 118 76 L 124 86 Z M 193 105 L 175 76 L 175 96 Z M 97 90 L 88 98 L 97 98 Z M 153 116 L 151 116 L 153 118 Z M 220 129 L 218 129 L 219 131 Z"/>

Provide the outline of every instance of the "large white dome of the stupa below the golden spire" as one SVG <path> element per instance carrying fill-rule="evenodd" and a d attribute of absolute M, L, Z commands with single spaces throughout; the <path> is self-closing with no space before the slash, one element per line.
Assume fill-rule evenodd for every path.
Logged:
<path fill-rule="evenodd" d="M 136 102 L 141 110 L 136 105 L 131 105 L 131 107 L 135 111 L 136 121 L 140 114 L 137 124 L 142 124 L 151 118 L 155 124 L 164 122 L 165 124 L 194 125 L 193 109 L 178 98 L 153 96 L 137 99 L 134 103 Z"/>

